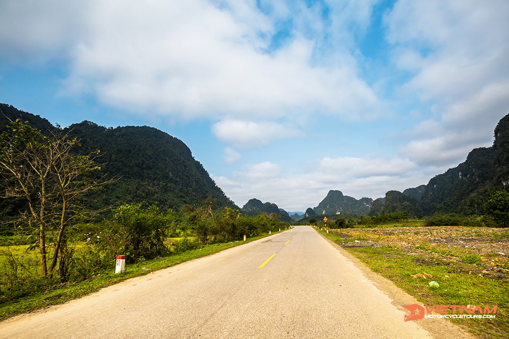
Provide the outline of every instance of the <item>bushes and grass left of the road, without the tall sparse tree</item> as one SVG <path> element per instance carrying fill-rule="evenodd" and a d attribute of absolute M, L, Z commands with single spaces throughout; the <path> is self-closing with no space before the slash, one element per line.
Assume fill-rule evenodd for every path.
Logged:
<path fill-rule="evenodd" d="M 229 207 L 213 209 L 213 200 L 181 211 L 156 205 L 123 205 L 102 222 L 76 224 L 66 233 L 66 269 L 40 272 L 34 235 L 21 229 L 0 236 L 0 320 L 62 303 L 122 280 L 207 256 L 289 227 L 274 215 L 245 217 Z M 47 238 L 47 252 L 54 242 Z M 117 255 L 126 255 L 126 271 L 115 274 Z"/>

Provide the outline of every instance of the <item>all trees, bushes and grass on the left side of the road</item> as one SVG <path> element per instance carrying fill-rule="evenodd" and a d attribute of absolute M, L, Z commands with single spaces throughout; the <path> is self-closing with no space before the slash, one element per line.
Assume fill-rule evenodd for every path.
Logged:
<path fill-rule="evenodd" d="M 146 203 L 92 210 L 90 193 L 116 178 L 97 174 L 100 151 L 78 155 L 79 146 L 20 119 L 0 136 L 0 319 L 288 226 L 275 213 L 217 207 L 211 196 L 179 210 Z M 128 269 L 112 275 L 117 255 Z"/>

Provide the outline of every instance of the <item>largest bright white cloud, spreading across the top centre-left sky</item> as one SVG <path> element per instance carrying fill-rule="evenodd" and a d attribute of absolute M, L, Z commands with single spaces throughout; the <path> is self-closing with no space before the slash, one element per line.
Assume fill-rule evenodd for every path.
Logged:
<path fill-rule="evenodd" d="M 333 67 L 313 61 L 320 35 L 308 37 L 296 26 L 287 44 L 266 53 L 285 11 L 264 15 L 252 4 L 99 2 L 87 36 L 75 42 L 65 88 L 133 112 L 184 119 L 275 119 L 317 107 L 349 119 L 381 114 L 347 51 L 335 53 Z M 315 8 L 302 7 L 300 19 L 321 21 Z"/>

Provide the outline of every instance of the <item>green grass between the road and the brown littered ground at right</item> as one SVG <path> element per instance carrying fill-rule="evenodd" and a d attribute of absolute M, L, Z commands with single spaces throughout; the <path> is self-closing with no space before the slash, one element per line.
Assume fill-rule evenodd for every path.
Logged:
<path fill-rule="evenodd" d="M 340 230 L 342 231 L 342 230 Z M 396 286 L 414 296 L 423 305 L 497 305 L 495 319 L 452 319 L 451 321 L 467 326 L 481 337 L 505 338 L 509 333 L 509 282 L 507 279 L 493 279 L 483 274 L 472 273 L 483 264 L 483 257 L 467 252 L 466 249 L 453 248 L 442 250 L 435 245 L 418 246 L 418 252 L 410 252 L 399 245 L 381 245 L 376 237 L 327 234 L 325 237 L 341 244 L 352 255 L 360 259 L 376 273 L 391 280 Z M 349 234 L 347 234 L 349 235 Z M 352 239 L 373 240 L 352 246 Z M 354 241 L 353 240 L 353 241 Z M 412 250 L 415 251 L 415 250 Z M 456 255 L 457 261 L 447 261 L 444 255 Z M 412 278 L 413 274 L 428 273 L 432 279 Z M 428 286 L 436 281 L 439 288 Z"/>

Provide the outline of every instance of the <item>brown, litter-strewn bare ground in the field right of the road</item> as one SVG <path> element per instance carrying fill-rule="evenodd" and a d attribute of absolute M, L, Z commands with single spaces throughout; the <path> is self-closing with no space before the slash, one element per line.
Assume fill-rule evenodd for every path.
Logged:
<path fill-rule="evenodd" d="M 388 246 L 414 256 L 414 261 L 423 265 L 453 265 L 469 274 L 509 280 L 509 229 L 397 227 L 341 229 L 331 233 L 341 237 L 337 242 L 342 246 Z"/>

